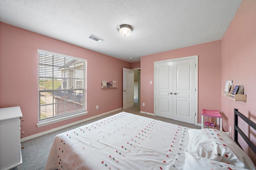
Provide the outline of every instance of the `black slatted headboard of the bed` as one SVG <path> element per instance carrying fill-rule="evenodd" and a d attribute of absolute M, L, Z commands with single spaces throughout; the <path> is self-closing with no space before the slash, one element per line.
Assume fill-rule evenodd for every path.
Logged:
<path fill-rule="evenodd" d="M 238 127 L 238 116 L 243 119 L 250 127 L 252 127 L 254 130 L 256 130 L 256 123 L 251 121 L 248 117 L 244 116 L 242 113 L 238 111 L 238 109 L 234 109 L 234 141 L 237 143 L 237 145 L 241 147 L 241 145 L 238 142 L 238 133 L 242 136 L 244 141 L 249 145 L 249 147 L 252 149 L 252 151 L 256 154 L 256 145 L 252 143 L 252 141 L 242 132 L 242 130 Z"/>

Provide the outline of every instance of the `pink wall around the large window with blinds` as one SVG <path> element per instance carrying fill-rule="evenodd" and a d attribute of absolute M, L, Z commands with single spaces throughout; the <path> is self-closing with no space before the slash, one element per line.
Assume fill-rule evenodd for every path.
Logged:
<path fill-rule="evenodd" d="M 43 127 L 36 126 L 37 49 L 87 59 L 87 115 Z M 22 123 L 23 137 L 122 108 L 123 67 L 131 68 L 131 63 L 0 22 L 0 108 L 20 106 L 25 120 Z M 102 90 L 102 80 L 116 80 L 119 87 Z"/>

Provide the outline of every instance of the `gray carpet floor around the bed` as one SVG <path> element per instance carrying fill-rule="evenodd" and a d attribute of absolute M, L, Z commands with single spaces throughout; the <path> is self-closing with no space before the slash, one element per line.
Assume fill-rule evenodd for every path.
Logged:
<path fill-rule="evenodd" d="M 22 170 L 44 170 L 44 166 L 46 164 L 46 160 L 47 160 L 48 154 L 50 152 L 52 142 L 56 135 L 63 133 L 65 131 L 68 131 L 68 130 L 72 130 L 76 127 L 80 127 L 82 125 L 86 125 L 88 123 L 92 123 L 94 121 L 103 119 L 104 117 L 108 117 L 110 115 L 120 113 L 122 111 L 126 111 L 128 113 L 134 113 L 137 115 L 142 115 L 145 117 L 150 117 L 152 119 L 157 119 L 157 120 L 173 123 L 173 124 L 180 125 L 180 126 L 190 127 L 190 128 L 194 128 L 194 129 L 201 129 L 200 126 L 192 125 L 190 123 L 184 123 L 181 121 L 175 121 L 172 119 L 166 119 L 163 117 L 140 113 L 140 105 L 138 103 L 134 103 L 134 107 L 122 109 L 119 111 L 114 111 L 107 115 L 100 116 L 100 117 L 91 119 L 89 121 L 79 123 L 77 125 L 73 125 L 73 126 L 52 132 L 52 133 L 48 133 L 46 135 L 42 135 L 40 137 L 36 137 L 34 139 L 30 139 L 30 140 L 22 142 L 21 145 L 22 145 L 22 147 L 24 147 L 24 149 L 21 150 L 22 151 L 22 161 L 23 161 Z M 14 168 L 14 169 L 17 169 L 17 168 Z"/>

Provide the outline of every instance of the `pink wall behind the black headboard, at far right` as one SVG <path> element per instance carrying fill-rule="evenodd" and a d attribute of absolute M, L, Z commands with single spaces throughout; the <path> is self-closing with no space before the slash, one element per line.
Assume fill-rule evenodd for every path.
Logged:
<path fill-rule="evenodd" d="M 222 38 L 222 89 L 227 80 L 233 80 L 234 85 L 244 85 L 244 94 L 247 94 L 246 102 L 235 102 L 222 96 L 221 110 L 226 118 L 226 127 L 232 127 L 234 132 L 234 108 L 238 109 L 246 117 L 256 122 L 256 1 L 243 0 L 236 12 L 226 33 Z M 243 125 L 243 130 L 250 131 Z M 248 133 L 251 140 L 256 143 L 256 132 Z M 243 145 L 246 145 L 243 142 Z M 247 153 L 247 149 L 244 149 Z M 249 156 L 256 163 L 255 155 Z"/>

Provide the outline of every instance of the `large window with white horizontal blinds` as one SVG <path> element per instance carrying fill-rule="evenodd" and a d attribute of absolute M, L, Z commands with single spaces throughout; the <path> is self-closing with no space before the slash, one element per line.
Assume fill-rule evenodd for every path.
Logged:
<path fill-rule="evenodd" d="M 86 60 L 39 49 L 38 57 L 38 126 L 86 114 Z"/>

